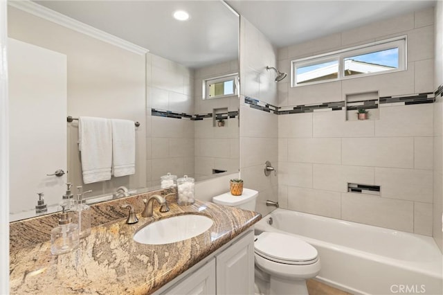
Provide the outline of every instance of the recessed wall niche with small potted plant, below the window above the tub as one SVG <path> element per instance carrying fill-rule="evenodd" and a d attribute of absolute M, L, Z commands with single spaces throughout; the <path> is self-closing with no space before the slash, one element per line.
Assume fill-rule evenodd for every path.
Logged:
<path fill-rule="evenodd" d="M 357 112 L 360 108 L 364 108 L 366 111 L 368 111 L 367 120 L 378 120 L 380 118 L 379 91 L 346 94 L 346 120 L 359 120 Z"/>

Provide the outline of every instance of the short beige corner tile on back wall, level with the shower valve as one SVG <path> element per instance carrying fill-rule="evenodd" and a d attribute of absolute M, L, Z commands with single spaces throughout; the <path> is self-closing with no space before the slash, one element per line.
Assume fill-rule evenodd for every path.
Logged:
<path fill-rule="evenodd" d="M 279 185 L 312 188 L 312 164 L 279 162 L 278 168 Z"/>

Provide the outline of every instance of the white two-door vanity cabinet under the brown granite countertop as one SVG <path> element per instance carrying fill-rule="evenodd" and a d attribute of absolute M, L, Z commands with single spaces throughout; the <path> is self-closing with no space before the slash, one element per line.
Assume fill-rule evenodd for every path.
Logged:
<path fill-rule="evenodd" d="M 154 294 L 253 293 L 254 234 L 250 230 L 191 267 Z"/>

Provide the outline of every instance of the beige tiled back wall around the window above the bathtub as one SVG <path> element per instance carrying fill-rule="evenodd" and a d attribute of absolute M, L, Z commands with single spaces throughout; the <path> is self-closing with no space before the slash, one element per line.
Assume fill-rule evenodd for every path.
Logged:
<path fill-rule="evenodd" d="M 408 36 L 407 71 L 291 88 L 278 84 L 278 107 L 343 101 L 347 94 L 431 93 L 434 12 L 424 10 L 280 48 L 290 62 L 399 35 Z M 345 120 L 345 111 L 278 115 L 279 202 L 283 208 L 342 220 L 433 233 L 433 104 L 380 105 L 379 119 Z M 380 195 L 347 193 L 347 183 Z"/>

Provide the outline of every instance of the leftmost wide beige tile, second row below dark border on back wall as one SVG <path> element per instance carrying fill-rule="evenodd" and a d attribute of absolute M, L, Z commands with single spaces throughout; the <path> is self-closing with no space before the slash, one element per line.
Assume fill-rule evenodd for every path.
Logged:
<path fill-rule="evenodd" d="M 288 160 L 302 163 L 341 163 L 340 138 L 290 138 Z"/>

